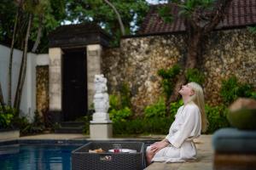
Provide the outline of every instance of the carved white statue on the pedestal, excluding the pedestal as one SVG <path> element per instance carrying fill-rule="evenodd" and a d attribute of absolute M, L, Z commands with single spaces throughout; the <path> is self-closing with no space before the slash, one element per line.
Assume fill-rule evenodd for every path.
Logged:
<path fill-rule="evenodd" d="M 95 92 L 93 104 L 95 113 L 92 116 L 92 122 L 110 122 L 108 116 L 109 99 L 108 99 L 108 88 L 107 78 L 102 74 L 95 75 Z"/>

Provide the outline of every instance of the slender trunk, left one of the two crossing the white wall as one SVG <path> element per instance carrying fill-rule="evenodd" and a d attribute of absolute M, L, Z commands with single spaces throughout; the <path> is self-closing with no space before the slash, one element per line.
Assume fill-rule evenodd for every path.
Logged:
<path fill-rule="evenodd" d="M 14 46 L 15 46 L 15 35 L 16 35 L 19 12 L 20 12 L 20 8 L 17 9 L 16 16 L 15 16 L 15 28 L 14 28 L 10 54 L 9 54 L 9 81 L 8 81 L 8 105 L 9 106 L 12 106 L 12 67 L 13 67 L 13 54 L 14 54 Z"/>

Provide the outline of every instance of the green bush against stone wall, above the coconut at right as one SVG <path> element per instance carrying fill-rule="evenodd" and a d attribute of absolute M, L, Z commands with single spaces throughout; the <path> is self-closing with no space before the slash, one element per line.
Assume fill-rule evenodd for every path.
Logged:
<path fill-rule="evenodd" d="M 225 105 L 230 105 L 238 97 L 255 98 L 255 91 L 252 85 L 238 82 L 238 79 L 232 76 L 222 82 L 220 96 Z"/>

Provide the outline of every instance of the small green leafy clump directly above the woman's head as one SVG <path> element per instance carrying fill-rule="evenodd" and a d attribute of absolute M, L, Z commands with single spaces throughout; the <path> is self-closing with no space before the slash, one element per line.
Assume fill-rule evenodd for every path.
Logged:
<path fill-rule="evenodd" d="M 203 84 L 203 82 L 205 82 L 203 73 L 198 69 L 188 69 L 185 77 L 188 82 L 197 82 L 199 84 Z"/>

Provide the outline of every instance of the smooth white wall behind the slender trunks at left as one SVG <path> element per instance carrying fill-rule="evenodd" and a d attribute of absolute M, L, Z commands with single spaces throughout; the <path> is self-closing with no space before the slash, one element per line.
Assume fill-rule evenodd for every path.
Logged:
<path fill-rule="evenodd" d="M 0 45 L 0 82 L 5 103 L 8 102 L 9 53 L 9 48 Z M 12 105 L 15 100 L 21 58 L 22 51 L 15 49 L 12 72 Z M 34 111 L 36 111 L 36 66 L 49 65 L 47 59 L 49 59 L 48 54 L 27 54 L 26 78 L 20 102 L 20 116 L 26 116 L 30 121 L 33 120 Z"/>

